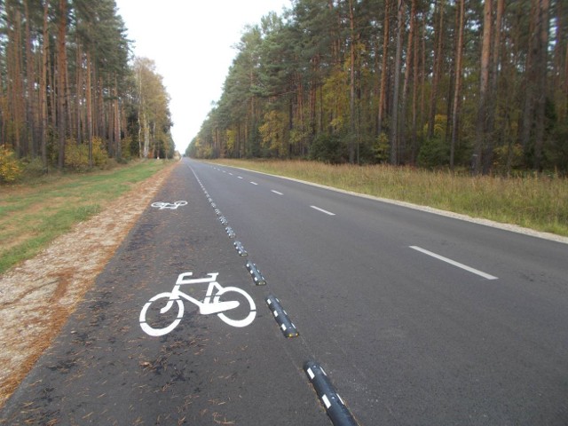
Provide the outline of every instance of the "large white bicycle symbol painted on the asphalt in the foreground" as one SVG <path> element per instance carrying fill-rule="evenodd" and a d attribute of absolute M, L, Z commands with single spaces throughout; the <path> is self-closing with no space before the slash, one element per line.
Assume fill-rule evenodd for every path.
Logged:
<path fill-rule="evenodd" d="M 255 302 L 252 300 L 252 297 L 249 296 L 248 293 L 241 288 L 222 287 L 221 285 L 219 285 L 219 283 L 217 282 L 218 274 L 219 274 L 218 272 L 209 273 L 207 278 L 197 278 L 197 279 L 190 279 L 190 277 L 193 275 L 193 272 L 185 272 L 179 274 L 179 276 L 177 277 L 176 285 L 171 291 L 160 293 L 152 297 L 144 305 L 142 311 L 140 312 L 140 327 L 142 327 L 142 329 L 146 332 L 147 335 L 158 336 L 158 335 L 167 335 L 168 333 L 170 333 L 170 331 L 172 331 L 175 327 L 177 327 L 177 325 L 181 322 L 182 317 L 184 316 L 184 302 L 181 300 L 181 298 L 184 298 L 185 300 L 188 300 L 189 302 L 196 304 L 199 307 L 199 312 L 202 315 L 211 315 L 215 313 L 217 314 L 217 317 L 222 319 L 226 324 L 230 326 L 247 327 L 250 323 L 252 323 L 252 321 L 255 319 L 256 316 Z M 199 300 L 193 298 L 192 296 L 186 295 L 185 293 L 179 290 L 179 288 L 183 284 L 201 284 L 206 282 L 209 282 L 209 287 L 207 288 L 207 294 L 203 299 L 203 302 L 200 302 Z M 213 293 L 214 291 L 217 291 L 217 293 L 214 294 Z M 225 295 L 225 293 L 231 293 L 231 292 L 235 292 L 240 294 L 241 296 L 244 296 L 249 304 L 250 307 L 249 312 L 248 314 L 246 314 L 246 317 L 243 319 L 232 319 L 229 318 L 227 314 L 225 314 L 225 312 L 232 311 L 233 309 L 241 305 L 241 303 L 238 300 L 225 300 L 225 301 L 219 300 L 219 298 Z M 236 295 L 233 295 L 233 298 L 234 297 L 236 297 Z M 165 306 L 162 309 L 160 309 L 160 313 L 164 314 L 170 311 L 171 307 L 174 306 L 175 303 L 177 303 L 177 310 L 178 310 L 177 317 L 167 327 L 154 328 L 147 323 L 146 315 L 148 312 L 148 308 L 150 308 L 150 305 L 160 299 L 166 299 L 165 301 L 162 301 L 162 303 L 165 303 Z M 240 310 L 239 314 L 242 315 L 242 310 Z"/>

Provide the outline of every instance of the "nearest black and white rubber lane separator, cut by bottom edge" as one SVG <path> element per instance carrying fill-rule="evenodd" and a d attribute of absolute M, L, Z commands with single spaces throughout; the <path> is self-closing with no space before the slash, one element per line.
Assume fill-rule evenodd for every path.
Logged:
<path fill-rule="evenodd" d="M 304 371 L 308 375 L 322 404 L 326 407 L 326 412 L 331 422 L 335 426 L 359 426 L 349 408 L 345 406 L 343 399 L 336 392 L 334 385 L 327 377 L 323 368 L 315 361 L 307 361 L 304 364 Z"/>

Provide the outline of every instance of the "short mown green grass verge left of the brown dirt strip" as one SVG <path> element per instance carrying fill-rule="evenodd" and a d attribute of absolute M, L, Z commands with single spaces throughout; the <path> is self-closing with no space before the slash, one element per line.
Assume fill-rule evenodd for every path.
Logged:
<path fill-rule="evenodd" d="M 36 256 L 170 162 L 134 162 L 88 174 L 48 175 L 0 186 L 0 273 Z"/>

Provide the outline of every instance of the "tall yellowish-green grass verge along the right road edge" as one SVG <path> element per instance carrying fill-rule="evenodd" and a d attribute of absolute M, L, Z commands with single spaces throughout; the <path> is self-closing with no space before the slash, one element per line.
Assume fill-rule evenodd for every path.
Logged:
<path fill-rule="evenodd" d="M 568 236 L 565 177 L 471 177 L 388 165 L 301 161 L 217 162 Z"/>

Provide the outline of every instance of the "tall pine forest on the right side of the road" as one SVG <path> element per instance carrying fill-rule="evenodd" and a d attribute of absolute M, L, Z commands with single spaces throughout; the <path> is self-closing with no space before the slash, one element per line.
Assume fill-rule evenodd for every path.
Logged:
<path fill-rule="evenodd" d="M 292 0 L 186 154 L 568 171 L 568 2 Z"/>

